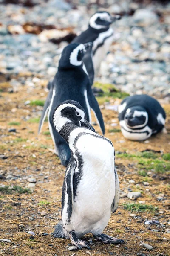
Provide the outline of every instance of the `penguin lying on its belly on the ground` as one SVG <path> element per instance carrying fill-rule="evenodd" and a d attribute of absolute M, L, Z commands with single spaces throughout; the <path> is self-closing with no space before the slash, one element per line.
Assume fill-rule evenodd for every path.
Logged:
<path fill-rule="evenodd" d="M 122 134 L 129 140 L 146 140 L 164 128 L 164 109 L 146 94 L 125 98 L 118 111 Z"/>

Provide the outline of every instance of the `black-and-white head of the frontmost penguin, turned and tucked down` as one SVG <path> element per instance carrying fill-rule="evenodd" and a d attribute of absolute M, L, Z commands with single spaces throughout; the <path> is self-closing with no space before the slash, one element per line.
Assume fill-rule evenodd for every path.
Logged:
<path fill-rule="evenodd" d="M 66 130 L 66 126 L 69 128 L 71 123 L 95 132 L 93 126 L 87 121 L 84 108 L 74 100 L 66 100 L 59 104 L 53 112 L 52 121 L 59 133 L 62 128 Z"/>

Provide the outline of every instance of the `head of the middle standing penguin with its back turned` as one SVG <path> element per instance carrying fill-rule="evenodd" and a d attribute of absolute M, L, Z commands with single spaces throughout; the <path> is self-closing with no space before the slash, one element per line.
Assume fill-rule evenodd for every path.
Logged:
<path fill-rule="evenodd" d="M 93 43 L 86 44 L 68 44 L 60 56 L 59 68 L 73 68 L 82 66 L 82 58 L 86 50 L 92 49 Z"/>

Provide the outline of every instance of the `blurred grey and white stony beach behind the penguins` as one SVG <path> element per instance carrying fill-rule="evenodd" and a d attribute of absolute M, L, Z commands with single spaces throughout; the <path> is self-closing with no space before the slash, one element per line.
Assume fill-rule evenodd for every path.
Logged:
<path fill-rule="evenodd" d="M 170 99 L 170 3 L 132 0 L 0 0 L 0 81 L 46 86 L 62 48 L 97 10 L 119 14 L 115 41 L 96 81 Z M 44 81 L 44 82 L 43 82 Z"/>

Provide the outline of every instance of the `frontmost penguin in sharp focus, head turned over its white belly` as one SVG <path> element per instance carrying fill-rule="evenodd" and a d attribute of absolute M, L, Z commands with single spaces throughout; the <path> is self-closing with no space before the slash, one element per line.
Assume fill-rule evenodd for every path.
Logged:
<path fill-rule="evenodd" d="M 102 233 L 119 203 L 113 144 L 95 132 L 85 110 L 73 100 L 58 105 L 52 120 L 71 149 L 62 188 L 62 221 L 54 237 L 70 238 L 79 249 L 90 249 L 80 239 L 87 233 L 105 244 L 122 243 Z"/>

